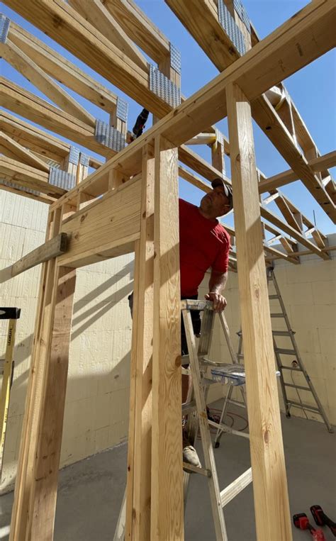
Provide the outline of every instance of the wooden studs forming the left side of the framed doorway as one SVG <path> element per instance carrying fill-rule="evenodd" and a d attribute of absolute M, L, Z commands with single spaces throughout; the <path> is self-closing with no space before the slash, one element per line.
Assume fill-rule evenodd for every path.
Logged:
<path fill-rule="evenodd" d="M 47 234 L 57 235 L 61 209 Z M 10 538 L 52 540 L 75 270 L 43 265 Z"/>

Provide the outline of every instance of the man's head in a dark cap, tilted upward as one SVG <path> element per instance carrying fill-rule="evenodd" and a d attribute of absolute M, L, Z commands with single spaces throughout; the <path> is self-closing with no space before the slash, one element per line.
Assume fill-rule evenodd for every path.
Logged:
<path fill-rule="evenodd" d="M 201 199 L 201 211 L 208 218 L 218 218 L 233 208 L 233 192 L 231 186 L 224 184 L 222 179 L 211 182 L 212 191 Z"/>

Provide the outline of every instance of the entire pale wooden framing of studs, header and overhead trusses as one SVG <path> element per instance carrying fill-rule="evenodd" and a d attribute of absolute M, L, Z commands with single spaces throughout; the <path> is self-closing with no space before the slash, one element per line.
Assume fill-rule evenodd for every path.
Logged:
<path fill-rule="evenodd" d="M 181 96 L 177 107 L 152 89 L 153 66 L 143 54 L 178 90 L 174 45 L 133 0 L 4 2 L 155 115 L 154 126 L 133 143 L 121 150 L 106 145 L 96 135 L 96 118 L 65 87 L 107 111 L 108 128 L 127 140 L 123 101 L 9 22 L 1 56 L 48 101 L 1 78 L 7 111 L 0 112 L 0 187 L 50 205 L 45 245 L 6 269 L 6 276 L 2 272 L 9 279 L 43 262 L 12 541 L 53 537 L 76 268 L 129 252 L 135 252 L 135 304 L 126 538 L 184 538 L 179 177 L 203 191 L 210 191 L 215 177 L 232 182 L 230 268 L 239 269 L 257 537 L 291 539 L 264 264 L 278 258 L 299 264 L 308 254 L 328 260 L 335 249 L 280 190 L 300 179 L 335 223 L 335 183 L 328 168 L 336 164 L 336 151 L 320 155 L 281 82 L 335 46 L 335 1 L 311 1 L 259 41 L 233 1 L 224 0 L 245 40 L 242 56 L 220 25 L 221 0 L 165 1 L 220 72 L 191 98 Z M 230 141 L 214 127 L 226 116 Z M 267 178 L 257 168 L 252 118 L 289 170 Z M 50 131 L 98 153 L 101 161 Z M 205 144 L 211 164 L 190 149 Z M 225 155 L 232 181 L 225 175 Z M 89 174 L 89 167 L 96 170 Z M 71 177 L 72 189 L 52 182 L 55 169 Z M 271 201 L 282 218 L 269 210 Z M 284 251 L 274 248 L 276 241 Z"/>

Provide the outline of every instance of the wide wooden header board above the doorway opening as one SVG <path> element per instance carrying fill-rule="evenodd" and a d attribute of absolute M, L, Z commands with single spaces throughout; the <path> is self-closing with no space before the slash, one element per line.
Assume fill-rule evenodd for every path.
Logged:
<path fill-rule="evenodd" d="M 137 179 L 130 180 L 63 222 L 69 246 L 57 263 L 82 267 L 132 252 L 140 235 L 140 187 Z"/>

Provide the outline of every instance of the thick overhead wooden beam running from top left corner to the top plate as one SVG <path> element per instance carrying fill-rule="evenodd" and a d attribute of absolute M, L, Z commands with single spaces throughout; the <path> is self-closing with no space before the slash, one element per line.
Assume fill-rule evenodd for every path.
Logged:
<path fill-rule="evenodd" d="M 150 91 L 149 69 L 136 65 L 63 0 L 6 0 L 6 4 L 155 115 L 162 117 L 170 110 Z"/>

